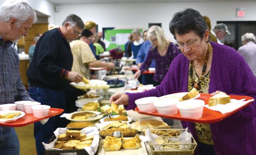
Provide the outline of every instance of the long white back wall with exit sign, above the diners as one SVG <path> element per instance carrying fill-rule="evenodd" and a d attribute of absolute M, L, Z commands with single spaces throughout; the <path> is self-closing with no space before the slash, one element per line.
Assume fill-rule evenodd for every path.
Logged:
<path fill-rule="evenodd" d="M 83 21 L 94 21 L 99 31 L 102 27 L 144 27 L 148 23 L 162 23 L 166 36 L 173 41 L 169 32 L 172 15 L 184 8 L 194 8 L 201 15 L 211 19 L 212 28 L 216 21 L 256 21 L 256 2 L 190 2 L 190 3 L 109 3 L 59 5 L 61 11 L 55 13 L 55 24 L 60 26 L 70 13 Z M 245 8 L 245 17 L 235 17 L 236 8 Z M 221 10 L 221 11 L 218 11 Z"/>

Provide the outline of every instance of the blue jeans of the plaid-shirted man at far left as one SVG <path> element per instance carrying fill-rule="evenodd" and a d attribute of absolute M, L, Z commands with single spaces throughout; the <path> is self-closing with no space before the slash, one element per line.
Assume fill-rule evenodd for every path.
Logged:
<path fill-rule="evenodd" d="M 20 143 L 13 127 L 0 126 L 0 155 L 19 155 Z"/>

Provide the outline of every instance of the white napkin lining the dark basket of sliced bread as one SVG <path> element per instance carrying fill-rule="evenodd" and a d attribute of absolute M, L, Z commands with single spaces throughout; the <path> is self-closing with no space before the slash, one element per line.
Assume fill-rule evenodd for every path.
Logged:
<path fill-rule="evenodd" d="M 56 137 L 58 137 L 58 135 L 66 133 L 67 130 L 68 129 L 66 129 L 66 128 L 58 128 L 53 133 L 55 134 Z M 84 129 L 80 130 L 80 132 L 82 134 L 86 134 L 86 135 L 91 135 L 91 134 L 94 135 L 91 146 L 84 147 L 84 149 L 88 152 L 89 155 L 94 155 L 99 146 L 100 137 L 99 137 L 98 128 L 97 127 L 86 127 Z M 42 145 L 44 145 L 45 150 L 62 150 L 62 149 L 53 148 L 56 141 L 57 141 L 57 138 L 55 140 L 53 140 L 53 142 L 50 142 L 49 144 L 45 144 L 44 142 L 42 142 Z"/>

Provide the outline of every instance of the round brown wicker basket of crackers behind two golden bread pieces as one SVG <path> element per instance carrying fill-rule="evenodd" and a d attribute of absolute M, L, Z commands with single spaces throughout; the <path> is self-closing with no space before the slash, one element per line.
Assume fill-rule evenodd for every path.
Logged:
<path fill-rule="evenodd" d="M 106 130 L 102 130 L 100 131 L 100 137 L 102 139 L 105 139 L 106 136 L 110 136 L 111 134 L 113 134 L 115 131 L 120 131 L 121 134 L 123 135 L 123 137 L 135 137 L 138 130 L 137 129 L 121 129 L 121 128 L 117 128 L 117 129 L 106 129 Z"/>

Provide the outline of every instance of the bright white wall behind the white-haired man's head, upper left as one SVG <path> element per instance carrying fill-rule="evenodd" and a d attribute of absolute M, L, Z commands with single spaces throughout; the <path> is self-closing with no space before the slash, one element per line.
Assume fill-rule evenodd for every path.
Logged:
<path fill-rule="evenodd" d="M 2 5 L 4 2 L 5 0 L 0 0 L 0 5 Z M 28 2 L 35 10 L 49 15 L 49 23 L 55 23 L 53 3 L 50 3 L 48 0 L 26 0 L 26 2 Z"/>

